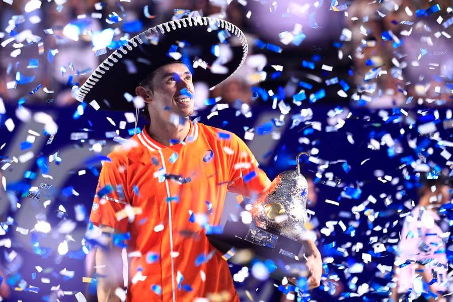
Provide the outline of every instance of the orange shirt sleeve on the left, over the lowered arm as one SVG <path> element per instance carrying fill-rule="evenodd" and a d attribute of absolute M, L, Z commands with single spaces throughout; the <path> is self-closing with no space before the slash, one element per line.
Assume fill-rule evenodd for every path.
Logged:
<path fill-rule="evenodd" d="M 90 221 L 99 226 L 104 224 L 118 232 L 126 233 L 128 219 L 123 213 L 129 206 L 126 186 L 126 163 L 121 156 L 111 153 L 112 161 L 104 162 L 99 175 L 96 195 L 91 209 Z"/>

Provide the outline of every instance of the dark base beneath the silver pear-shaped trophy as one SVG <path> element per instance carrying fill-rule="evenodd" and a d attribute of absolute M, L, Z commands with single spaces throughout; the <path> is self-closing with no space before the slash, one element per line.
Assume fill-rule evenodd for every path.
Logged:
<path fill-rule="evenodd" d="M 229 259 L 235 264 L 248 266 L 253 259 L 272 260 L 275 270 L 270 276 L 278 281 L 284 276 L 308 276 L 305 259 L 297 256 L 303 244 L 261 229 L 253 222 L 244 224 L 228 219 L 222 234 L 209 234 L 207 238 L 223 254 L 235 248 L 235 256 Z"/>

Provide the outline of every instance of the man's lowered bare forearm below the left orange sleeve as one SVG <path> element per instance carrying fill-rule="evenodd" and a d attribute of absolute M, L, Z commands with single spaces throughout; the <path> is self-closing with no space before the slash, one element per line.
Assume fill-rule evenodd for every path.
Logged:
<path fill-rule="evenodd" d="M 123 288 L 121 251 L 96 251 L 97 292 L 99 302 L 119 302 L 115 290 Z"/>

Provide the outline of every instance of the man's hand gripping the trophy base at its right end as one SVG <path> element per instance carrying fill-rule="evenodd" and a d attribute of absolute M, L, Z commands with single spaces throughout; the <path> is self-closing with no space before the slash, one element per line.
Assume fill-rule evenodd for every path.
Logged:
<path fill-rule="evenodd" d="M 321 284 L 321 276 L 323 274 L 323 260 L 321 258 L 321 253 L 316 247 L 315 243 L 312 240 L 303 240 L 300 243 L 304 244 L 304 253 L 300 254 L 298 257 L 307 260 L 306 266 L 308 271 L 308 289 L 313 289 L 318 287 Z M 297 285 L 296 278 L 288 277 L 288 281 L 294 285 Z"/>

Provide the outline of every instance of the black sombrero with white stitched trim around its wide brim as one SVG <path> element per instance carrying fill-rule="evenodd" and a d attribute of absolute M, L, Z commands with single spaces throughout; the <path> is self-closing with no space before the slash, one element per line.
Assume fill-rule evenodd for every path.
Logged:
<path fill-rule="evenodd" d="M 96 110 L 132 111 L 135 87 L 157 68 L 183 61 L 194 82 L 213 88 L 241 67 L 247 52 L 244 33 L 230 22 L 210 17 L 169 21 L 134 36 L 110 54 L 80 87 L 76 99 Z"/>

